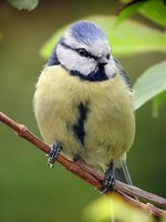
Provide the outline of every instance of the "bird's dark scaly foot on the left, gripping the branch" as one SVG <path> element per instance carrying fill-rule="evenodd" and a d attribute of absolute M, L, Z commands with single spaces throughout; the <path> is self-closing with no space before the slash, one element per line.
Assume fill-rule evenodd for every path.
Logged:
<path fill-rule="evenodd" d="M 58 155 L 60 154 L 62 150 L 62 144 L 60 142 L 55 142 L 53 143 L 53 145 L 51 145 L 51 151 L 48 154 L 49 159 L 48 159 L 48 165 L 50 168 L 53 168 L 53 163 L 56 160 Z"/>

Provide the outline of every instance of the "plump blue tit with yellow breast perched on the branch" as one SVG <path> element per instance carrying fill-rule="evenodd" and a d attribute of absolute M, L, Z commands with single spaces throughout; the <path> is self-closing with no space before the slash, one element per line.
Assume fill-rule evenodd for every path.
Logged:
<path fill-rule="evenodd" d="M 37 83 L 34 112 L 51 145 L 50 167 L 61 151 L 104 169 L 103 192 L 113 189 L 115 176 L 132 183 L 126 167 L 135 134 L 131 83 L 94 22 L 73 23 L 56 43 Z"/>

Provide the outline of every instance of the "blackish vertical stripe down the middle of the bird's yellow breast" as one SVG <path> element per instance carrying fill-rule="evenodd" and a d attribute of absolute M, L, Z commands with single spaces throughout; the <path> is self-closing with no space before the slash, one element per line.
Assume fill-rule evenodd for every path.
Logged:
<path fill-rule="evenodd" d="M 79 119 L 77 122 L 72 127 L 74 134 L 81 141 L 82 145 L 84 145 L 84 138 L 85 138 L 85 129 L 84 123 L 87 118 L 87 107 L 83 103 L 80 103 L 77 107 L 79 110 Z"/>

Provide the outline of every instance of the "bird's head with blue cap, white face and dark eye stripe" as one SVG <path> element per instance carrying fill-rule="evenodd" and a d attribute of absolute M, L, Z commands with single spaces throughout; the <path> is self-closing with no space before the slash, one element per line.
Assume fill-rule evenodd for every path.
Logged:
<path fill-rule="evenodd" d="M 105 33 L 89 21 L 73 23 L 66 30 L 50 57 L 49 65 L 54 64 L 90 81 L 107 80 L 116 73 Z"/>

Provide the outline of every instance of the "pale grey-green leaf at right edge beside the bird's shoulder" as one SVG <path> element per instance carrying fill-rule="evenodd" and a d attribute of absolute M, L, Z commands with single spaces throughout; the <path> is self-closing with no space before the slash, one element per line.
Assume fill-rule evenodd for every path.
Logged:
<path fill-rule="evenodd" d="M 135 110 L 164 90 L 166 90 L 166 61 L 151 67 L 134 84 Z"/>

